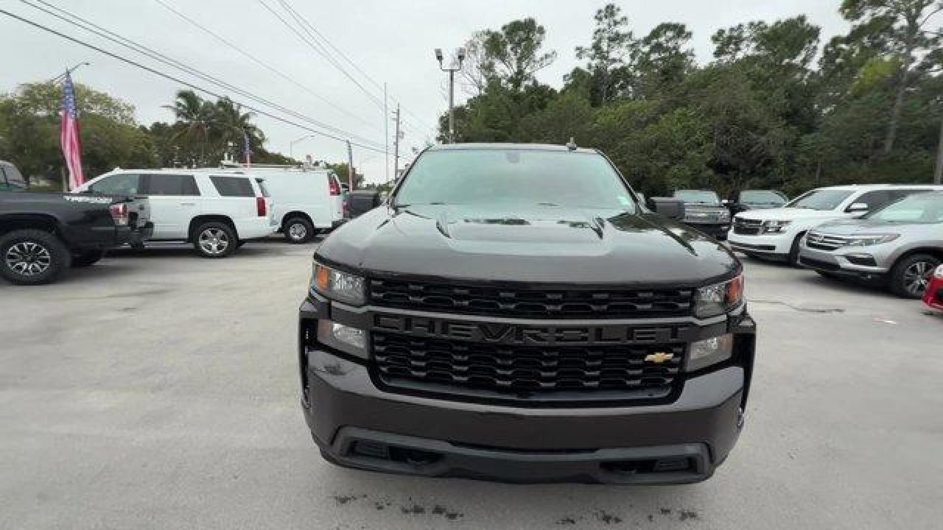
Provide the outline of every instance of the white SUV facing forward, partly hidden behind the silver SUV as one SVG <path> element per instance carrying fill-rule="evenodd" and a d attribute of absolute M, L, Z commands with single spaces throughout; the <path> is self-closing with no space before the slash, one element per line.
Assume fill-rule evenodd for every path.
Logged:
<path fill-rule="evenodd" d="M 803 193 L 786 206 L 736 214 L 727 240 L 731 248 L 750 257 L 765 257 L 796 265 L 800 240 L 809 228 L 836 219 L 860 217 L 907 195 L 943 190 L 933 185 L 833 186 Z"/>

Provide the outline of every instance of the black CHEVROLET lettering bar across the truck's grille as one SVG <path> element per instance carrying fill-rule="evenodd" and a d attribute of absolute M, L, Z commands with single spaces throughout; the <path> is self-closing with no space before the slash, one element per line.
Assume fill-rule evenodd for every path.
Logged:
<path fill-rule="evenodd" d="M 395 331 L 415 337 L 438 337 L 491 344 L 576 345 L 647 344 L 677 341 L 684 327 L 631 325 L 529 326 L 513 323 L 469 323 L 402 315 L 375 314 L 376 331 Z"/>

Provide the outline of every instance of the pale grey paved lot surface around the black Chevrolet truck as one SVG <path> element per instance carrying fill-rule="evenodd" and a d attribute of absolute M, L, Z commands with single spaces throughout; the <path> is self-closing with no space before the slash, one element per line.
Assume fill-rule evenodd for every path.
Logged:
<path fill-rule="evenodd" d="M 0 284 L 0 528 L 939 528 L 943 318 L 745 259 L 743 435 L 708 482 L 512 486 L 341 470 L 298 405 L 313 245 L 124 251 Z"/>

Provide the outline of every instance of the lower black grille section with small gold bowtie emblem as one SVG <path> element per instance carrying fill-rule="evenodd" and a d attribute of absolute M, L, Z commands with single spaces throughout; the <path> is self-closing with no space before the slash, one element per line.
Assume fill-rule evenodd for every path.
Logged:
<path fill-rule="evenodd" d="M 511 399 L 660 399 L 678 381 L 684 344 L 499 345 L 373 332 L 389 387 Z M 613 396 L 619 396 L 613 398 Z"/>

